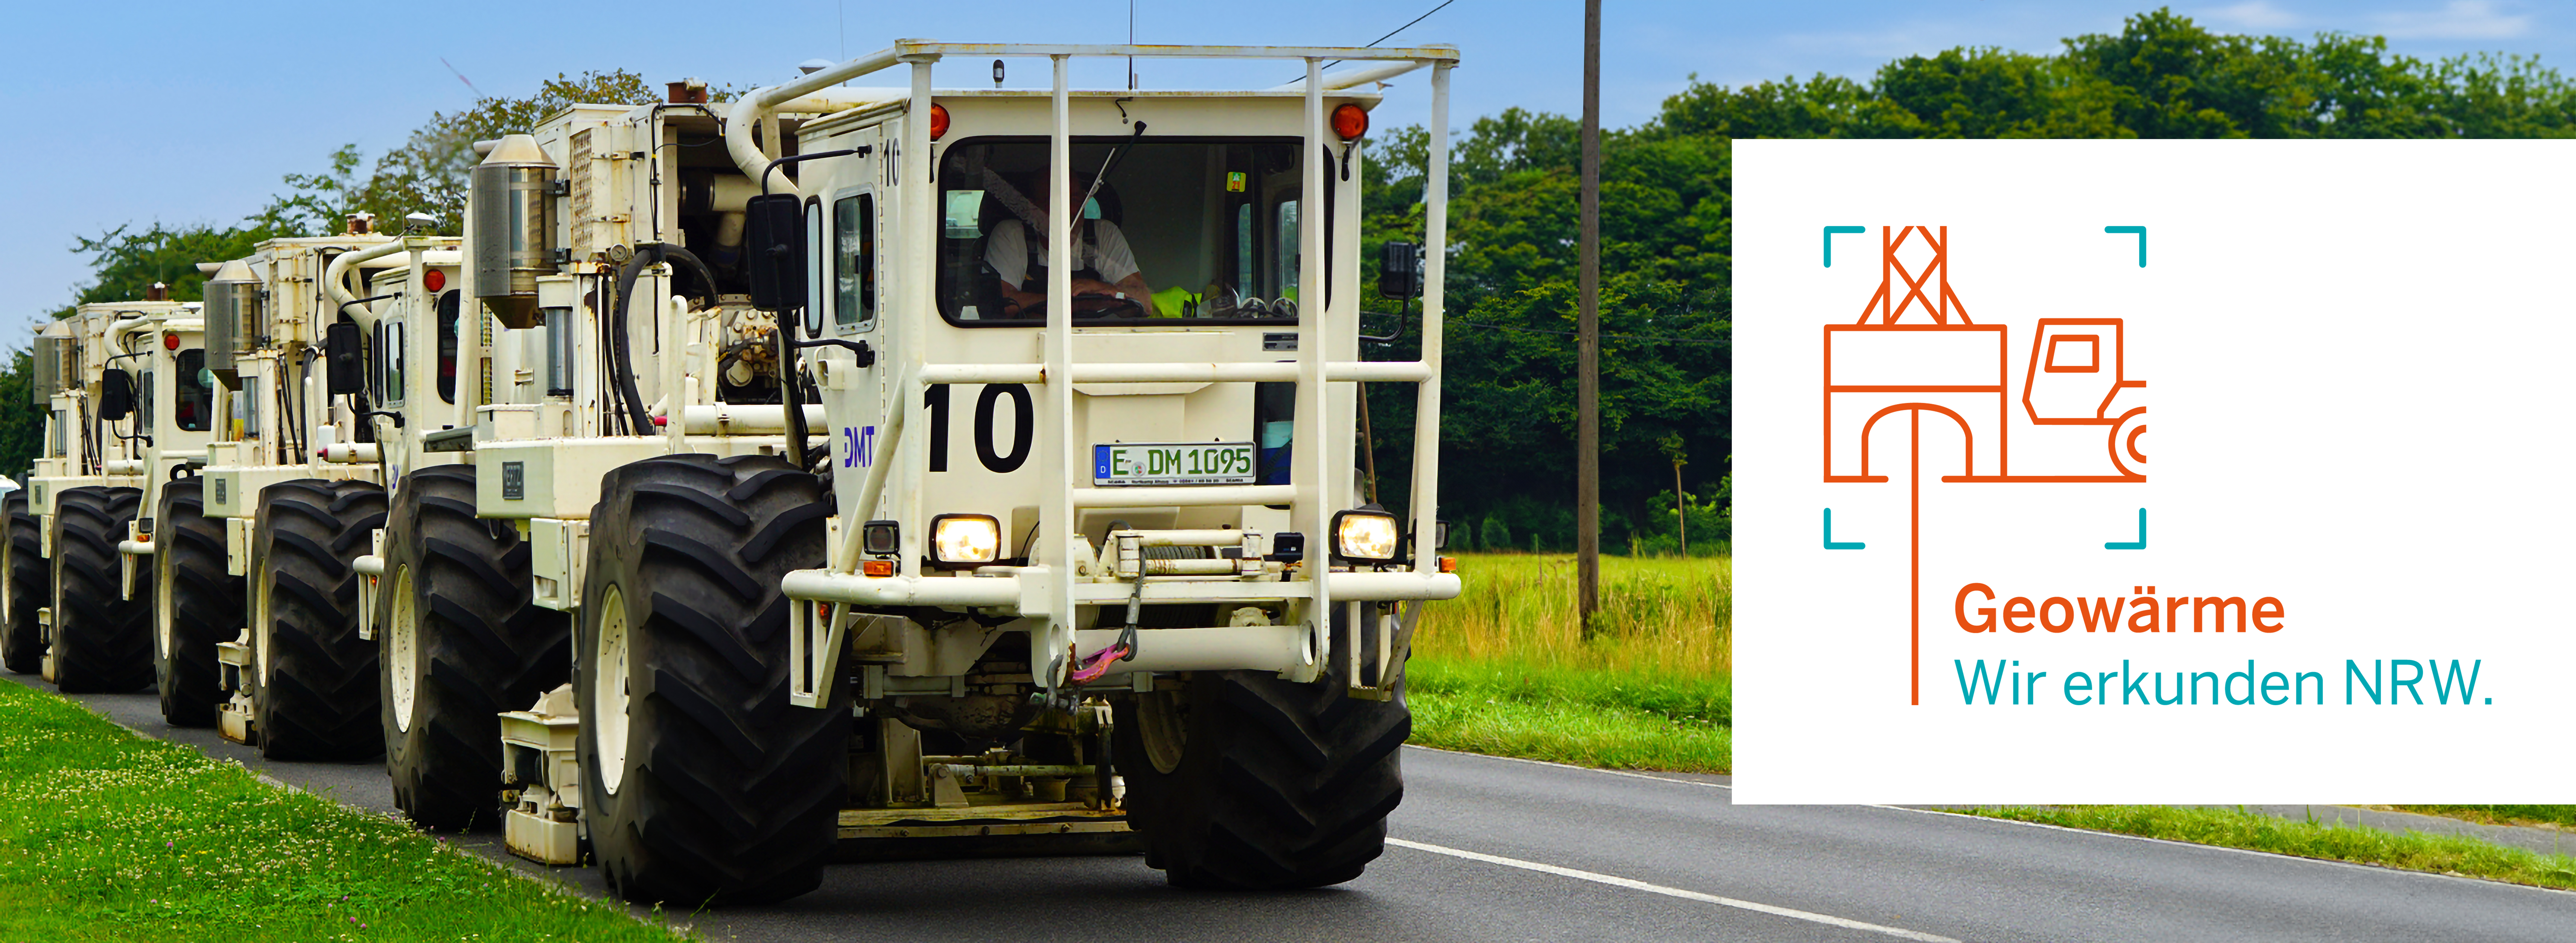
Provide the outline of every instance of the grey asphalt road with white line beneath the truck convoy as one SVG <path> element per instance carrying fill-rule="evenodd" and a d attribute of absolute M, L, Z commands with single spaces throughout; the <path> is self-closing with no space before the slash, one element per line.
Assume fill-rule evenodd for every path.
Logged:
<path fill-rule="evenodd" d="M 381 765 L 265 763 L 392 812 Z M 1893 806 L 1736 806 L 1721 776 L 1638 776 L 1406 750 L 1394 845 L 1358 881 L 1175 891 L 1136 855 L 832 866 L 773 907 L 685 915 L 714 940 L 2576 940 L 2576 894 Z M 531 873 L 603 894 L 587 868 Z"/>

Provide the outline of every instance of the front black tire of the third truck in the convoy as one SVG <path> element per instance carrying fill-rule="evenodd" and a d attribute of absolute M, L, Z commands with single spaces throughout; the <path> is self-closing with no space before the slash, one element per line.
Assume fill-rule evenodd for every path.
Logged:
<path fill-rule="evenodd" d="M 116 544 L 139 487 L 75 487 L 54 497 L 54 685 L 126 693 L 152 685 L 152 595 L 124 598 Z"/>

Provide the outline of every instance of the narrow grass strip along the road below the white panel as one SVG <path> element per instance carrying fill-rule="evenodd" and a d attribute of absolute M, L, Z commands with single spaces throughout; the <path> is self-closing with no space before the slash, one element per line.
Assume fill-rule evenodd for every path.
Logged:
<path fill-rule="evenodd" d="M 2094 832 L 2349 861 L 2403 871 L 2576 889 L 2576 858 L 2496 845 L 2468 835 L 2383 832 L 2244 809 L 2184 806 L 1955 806 L 1991 819 L 2063 824 Z"/>

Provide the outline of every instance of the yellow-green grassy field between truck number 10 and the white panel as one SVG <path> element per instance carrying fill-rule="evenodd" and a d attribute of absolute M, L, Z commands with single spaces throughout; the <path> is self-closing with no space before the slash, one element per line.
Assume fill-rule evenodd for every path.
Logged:
<path fill-rule="evenodd" d="M 1406 665 L 1414 742 L 1631 770 L 1734 765 L 1734 559 L 1602 557 L 1584 636 L 1574 557 L 1463 554 Z"/>

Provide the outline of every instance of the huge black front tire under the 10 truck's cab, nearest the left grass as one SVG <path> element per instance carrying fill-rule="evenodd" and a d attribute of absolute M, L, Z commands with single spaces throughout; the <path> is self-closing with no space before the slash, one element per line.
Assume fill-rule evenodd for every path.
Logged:
<path fill-rule="evenodd" d="M 574 691 L 582 817 L 621 897 L 811 891 L 848 799 L 848 709 L 788 703 L 781 577 L 822 567 L 832 497 L 770 456 L 647 459 L 590 513 Z"/>

